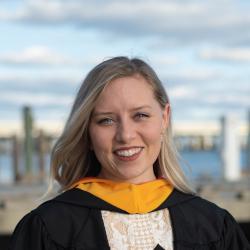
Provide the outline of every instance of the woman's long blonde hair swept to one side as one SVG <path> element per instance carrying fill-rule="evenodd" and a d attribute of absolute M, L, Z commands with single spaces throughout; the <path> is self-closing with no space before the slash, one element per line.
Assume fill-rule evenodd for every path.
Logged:
<path fill-rule="evenodd" d="M 144 61 L 127 57 L 114 57 L 92 69 L 83 81 L 64 131 L 52 149 L 51 180 L 55 179 L 61 190 L 67 190 L 79 179 L 95 176 L 100 163 L 90 150 L 89 122 L 96 100 L 105 86 L 112 80 L 126 76 L 140 75 L 152 87 L 162 108 L 169 103 L 167 93 L 154 70 Z M 172 136 L 171 117 L 162 141 L 157 161 L 154 163 L 157 175 L 162 175 L 178 190 L 192 193 L 179 165 L 178 153 Z"/>

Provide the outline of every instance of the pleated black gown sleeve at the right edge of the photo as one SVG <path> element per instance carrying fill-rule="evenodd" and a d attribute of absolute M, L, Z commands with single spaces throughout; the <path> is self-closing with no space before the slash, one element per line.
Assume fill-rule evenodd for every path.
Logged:
<path fill-rule="evenodd" d="M 233 216 L 226 212 L 222 231 L 221 246 L 224 250 L 250 250 L 250 243 Z"/>

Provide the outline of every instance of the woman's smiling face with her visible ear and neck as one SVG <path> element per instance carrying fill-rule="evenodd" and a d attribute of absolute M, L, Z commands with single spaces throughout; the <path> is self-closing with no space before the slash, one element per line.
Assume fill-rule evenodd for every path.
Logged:
<path fill-rule="evenodd" d="M 100 178 L 134 184 L 155 179 L 153 164 L 167 127 L 152 87 L 139 76 L 118 78 L 100 94 L 91 116 L 91 148 L 101 164 Z"/>

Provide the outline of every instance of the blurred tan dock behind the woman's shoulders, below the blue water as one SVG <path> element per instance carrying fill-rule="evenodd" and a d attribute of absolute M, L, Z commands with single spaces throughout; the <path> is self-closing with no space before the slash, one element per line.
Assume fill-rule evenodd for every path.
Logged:
<path fill-rule="evenodd" d="M 201 197 L 227 209 L 250 240 L 250 183 L 247 179 L 233 184 L 220 182 L 204 185 L 197 182 L 195 188 Z M 2 246 L 7 245 L 18 221 L 44 201 L 39 198 L 45 191 L 46 184 L 0 185 L 0 244 Z"/>

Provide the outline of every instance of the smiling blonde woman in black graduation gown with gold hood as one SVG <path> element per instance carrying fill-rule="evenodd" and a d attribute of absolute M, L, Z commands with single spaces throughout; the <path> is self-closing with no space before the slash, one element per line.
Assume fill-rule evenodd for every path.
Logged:
<path fill-rule="evenodd" d="M 250 249 L 232 216 L 189 187 L 170 113 L 142 60 L 97 65 L 52 151 L 63 193 L 19 222 L 10 249 Z"/>

